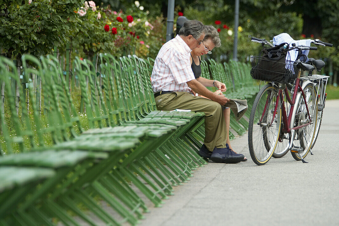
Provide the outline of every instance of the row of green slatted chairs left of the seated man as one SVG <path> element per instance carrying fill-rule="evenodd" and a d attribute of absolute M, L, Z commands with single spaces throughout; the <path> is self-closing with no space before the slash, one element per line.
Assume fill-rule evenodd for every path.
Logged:
<path fill-rule="evenodd" d="M 48 174 L 50 178 L 44 177 L 44 181 L 38 176 L 35 181 L 27 179 L 29 185 L 24 188 L 32 186 L 30 192 L 22 192 L 17 185 L 20 189 L 14 195 L 17 198 L 10 205 L 3 202 L 7 205 L 1 206 L 2 224 L 53 225 L 58 220 L 66 225 L 80 225 L 73 217 L 77 215 L 82 221 L 96 225 L 88 212 L 104 223 L 136 224 L 143 217 L 141 211 L 147 211 L 147 207 L 126 180 L 132 181 L 160 206 L 161 198 L 173 194 L 172 186 L 186 182 L 192 170 L 206 164 L 195 152 L 189 151 L 192 144 L 181 138 L 203 121 L 203 114 L 152 111 L 155 104 L 147 90 L 149 83 L 140 79 L 141 75 L 149 76 L 149 62 L 132 56 L 117 61 L 102 55 L 101 73 L 106 73 L 106 79 L 104 93 L 101 93 L 92 63 L 75 61 L 91 128 L 84 132 L 58 61 L 53 56 L 39 60 L 28 55 L 22 60 L 24 76 L 36 74 L 42 78 L 48 126 L 40 123 L 32 88 L 24 90 L 31 103 L 28 109 L 23 101 L 26 95 L 20 93 L 20 117 L 16 115 L 14 100 L 6 98 L 11 114 L 1 115 L 6 141 L 2 150 L 6 149 L 7 154 L 18 150 L 20 154 L 1 157 L 0 166 L 33 167 L 38 171 L 47 167 L 54 174 Z M 1 66 L 2 81 L 9 84 L 14 79 L 20 83 L 15 66 L 9 60 L 1 58 Z M 8 97 L 12 97 L 13 90 L 9 85 L 5 87 Z M 33 119 L 28 112 L 33 112 Z M 15 136 L 13 131 L 7 131 L 9 124 L 14 126 Z M 51 147 L 45 145 L 48 138 L 55 143 Z M 6 189 L 3 191 L 5 194 Z M 97 199 L 114 209 L 120 221 L 102 208 Z"/>

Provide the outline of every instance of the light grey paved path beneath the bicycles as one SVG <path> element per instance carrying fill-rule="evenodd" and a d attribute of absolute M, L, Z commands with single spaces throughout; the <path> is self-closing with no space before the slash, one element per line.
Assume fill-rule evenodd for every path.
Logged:
<path fill-rule="evenodd" d="M 309 163 L 290 153 L 256 166 L 247 135 L 232 141 L 247 162 L 195 171 L 141 225 L 339 225 L 339 100 L 327 100 Z"/>

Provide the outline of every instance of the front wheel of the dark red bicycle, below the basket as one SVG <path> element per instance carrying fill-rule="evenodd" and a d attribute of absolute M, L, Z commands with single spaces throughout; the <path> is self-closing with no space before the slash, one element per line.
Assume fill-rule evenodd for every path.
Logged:
<path fill-rule="evenodd" d="M 248 126 L 248 147 L 251 158 L 263 165 L 270 158 L 278 143 L 281 128 L 281 108 L 277 106 L 273 118 L 278 89 L 271 84 L 262 87 L 254 101 Z"/>

